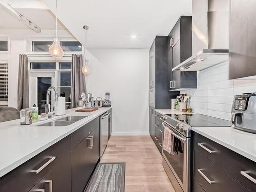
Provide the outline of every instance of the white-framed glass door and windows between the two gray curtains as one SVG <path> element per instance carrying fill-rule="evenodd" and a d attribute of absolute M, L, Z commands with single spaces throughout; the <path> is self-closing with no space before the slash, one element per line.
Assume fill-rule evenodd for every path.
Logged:
<path fill-rule="evenodd" d="M 66 98 L 66 109 L 71 106 L 71 62 L 30 61 L 32 105 L 38 106 L 39 114 L 45 112 L 46 92 L 49 87 L 58 89 L 58 95 Z M 51 100 L 51 99 L 50 99 Z M 54 101 L 52 101 L 54 102 Z"/>

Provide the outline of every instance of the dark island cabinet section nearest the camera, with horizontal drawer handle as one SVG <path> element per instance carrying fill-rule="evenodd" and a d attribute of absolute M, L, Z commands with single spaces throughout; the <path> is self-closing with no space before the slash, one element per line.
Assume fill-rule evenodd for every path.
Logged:
<path fill-rule="evenodd" d="M 54 191 L 70 192 L 70 151 L 70 136 L 67 136 L 1 177 L 0 191 L 34 191 L 32 188 L 38 182 L 43 183 L 44 178 L 47 178 L 47 180 L 52 180 Z M 48 191 L 48 187 L 45 191 Z"/>

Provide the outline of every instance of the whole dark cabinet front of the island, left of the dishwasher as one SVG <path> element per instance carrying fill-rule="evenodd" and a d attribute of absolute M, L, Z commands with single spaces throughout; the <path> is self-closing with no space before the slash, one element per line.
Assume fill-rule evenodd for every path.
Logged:
<path fill-rule="evenodd" d="M 82 192 L 99 161 L 99 118 L 0 178 L 0 192 Z"/>

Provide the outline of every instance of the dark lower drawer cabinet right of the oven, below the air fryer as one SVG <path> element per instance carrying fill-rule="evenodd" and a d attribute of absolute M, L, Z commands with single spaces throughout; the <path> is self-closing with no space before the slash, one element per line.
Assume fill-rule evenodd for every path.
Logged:
<path fill-rule="evenodd" d="M 192 138 L 194 192 L 256 191 L 255 162 L 196 132 Z"/>

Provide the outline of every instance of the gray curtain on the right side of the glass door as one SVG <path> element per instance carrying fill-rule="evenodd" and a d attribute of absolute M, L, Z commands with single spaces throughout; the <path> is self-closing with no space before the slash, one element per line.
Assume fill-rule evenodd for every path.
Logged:
<path fill-rule="evenodd" d="M 86 79 L 82 73 L 82 55 L 72 55 L 71 67 L 71 108 L 78 106 L 77 101 L 81 93 L 86 93 Z"/>

